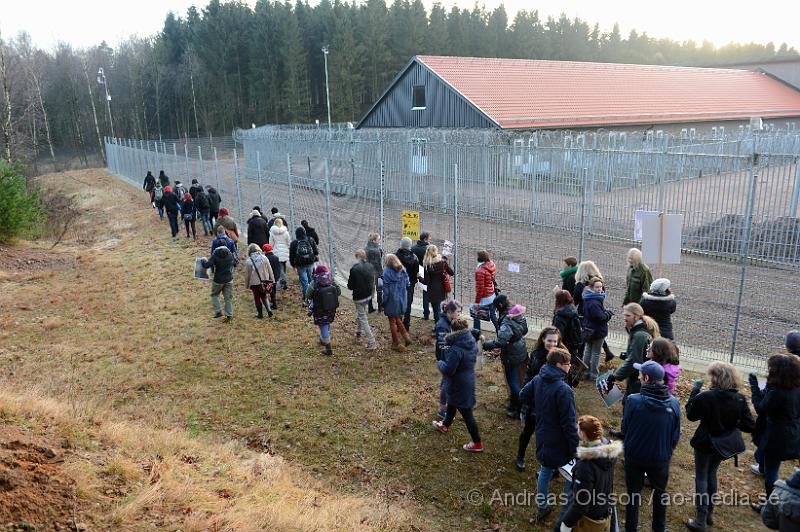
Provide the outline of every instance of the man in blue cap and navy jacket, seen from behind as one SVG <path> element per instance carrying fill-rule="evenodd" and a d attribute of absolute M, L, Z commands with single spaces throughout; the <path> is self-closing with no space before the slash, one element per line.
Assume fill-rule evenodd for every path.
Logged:
<path fill-rule="evenodd" d="M 669 464 L 681 435 L 681 410 L 664 385 L 664 368 L 658 362 L 648 360 L 633 367 L 639 372 L 641 386 L 639 392 L 628 396 L 622 417 L 628 499 L 625 530 L 637 532 L 639 528 L 641 492 L 647 476 L 653 487 L 652 529 L 665 532 Z"/>

